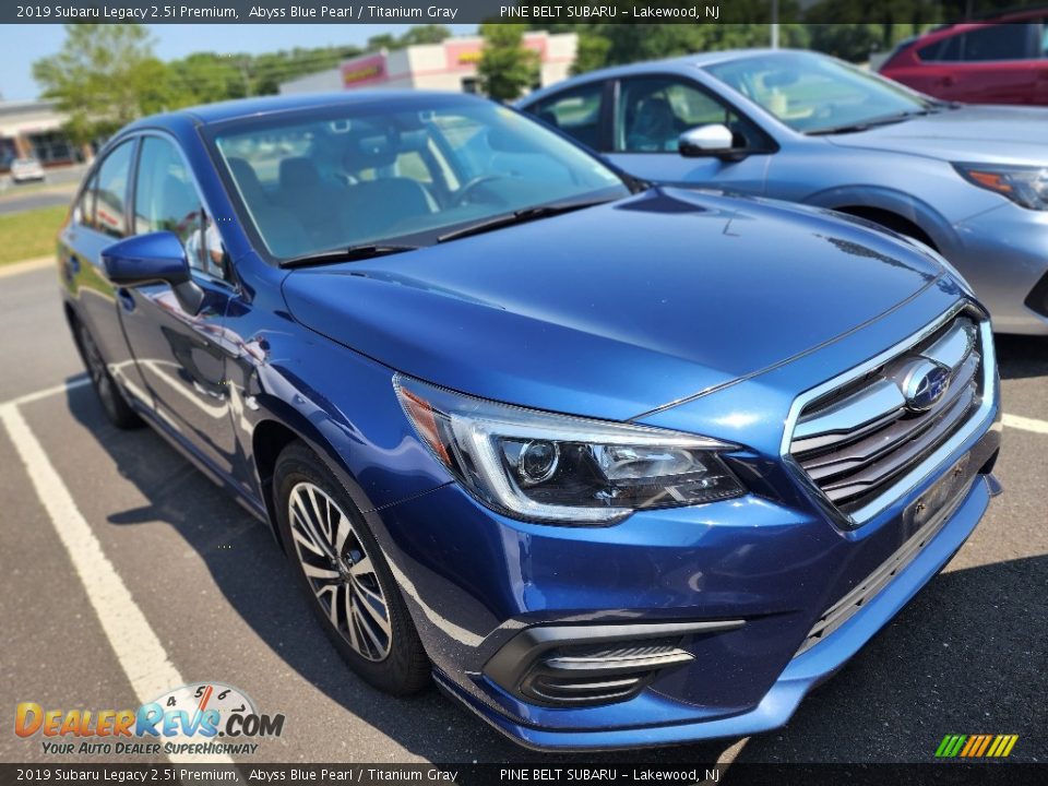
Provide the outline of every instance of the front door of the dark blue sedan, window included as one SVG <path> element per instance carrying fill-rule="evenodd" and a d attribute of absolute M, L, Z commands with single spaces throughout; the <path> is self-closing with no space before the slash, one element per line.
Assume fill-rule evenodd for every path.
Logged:
<path fill-rule="evenodd" d="M 134 176 L 133 231 L 171 231 L 186 249 L 200 311 L 183 309 L 167 284 L 117 290 L 120 317 L 157 417 L 214 469 L 229 476 L 236 442 L 226 385 L 223 321 L 235 293 L 211 213 L 174 140 L 142 136 Z"/>

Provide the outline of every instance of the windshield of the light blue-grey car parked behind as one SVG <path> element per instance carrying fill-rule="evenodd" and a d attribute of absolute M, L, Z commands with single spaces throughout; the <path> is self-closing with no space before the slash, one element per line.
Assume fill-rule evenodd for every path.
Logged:
<path fill-rule="evenodd" d="M 855 130 L 934 107 L 931 99 L 880 76 L 805 52 L 758 55 L 714 63 L 706 71 L 803 133 Z"/>

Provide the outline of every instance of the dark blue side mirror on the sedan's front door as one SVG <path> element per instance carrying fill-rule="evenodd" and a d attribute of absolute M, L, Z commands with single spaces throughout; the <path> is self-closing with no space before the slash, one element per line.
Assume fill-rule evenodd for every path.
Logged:
<path fill-rule="evenodd" d="M 200 313 L 204 291 L 193 282 L 186 249 L 175 233 L 150 233 L 120 240 L 102 252 L 102 264 L 106 277 L 116 286 L 167 284 L 187 313 Z"/>

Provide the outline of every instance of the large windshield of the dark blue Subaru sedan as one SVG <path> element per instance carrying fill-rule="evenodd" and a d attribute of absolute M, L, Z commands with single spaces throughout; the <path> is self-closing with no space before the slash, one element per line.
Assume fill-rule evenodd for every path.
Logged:
<path fill-rule="evenodd" d="M 615 171 L 539 123 L 462 97 L 241 119 L 213 140 L 278 260 L 429 245 L 497 216 L 629 193 Z"/>

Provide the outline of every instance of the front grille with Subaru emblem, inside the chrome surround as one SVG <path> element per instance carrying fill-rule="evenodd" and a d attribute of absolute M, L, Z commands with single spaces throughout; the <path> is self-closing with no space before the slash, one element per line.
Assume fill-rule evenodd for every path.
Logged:
<path fill-rule="evenodd" d="M 982 334 L 976 315 L 960 313 L 803 405 L 789 454 L 844 516 L 877 508 L 975 418 L 986 384 Z"/>

